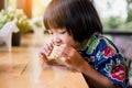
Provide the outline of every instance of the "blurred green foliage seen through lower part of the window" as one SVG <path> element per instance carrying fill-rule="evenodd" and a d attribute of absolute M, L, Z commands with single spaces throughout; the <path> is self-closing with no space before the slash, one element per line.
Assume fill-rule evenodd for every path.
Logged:
<path fill-rule="evenodd" d="M 132 21 L 119 16 L 101 18 L 105 31 L 132 32 Z"/>

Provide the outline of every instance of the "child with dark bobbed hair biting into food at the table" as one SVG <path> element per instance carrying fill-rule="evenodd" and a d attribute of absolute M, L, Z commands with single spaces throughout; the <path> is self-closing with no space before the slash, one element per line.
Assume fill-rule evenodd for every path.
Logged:
<path fill-rule="evenodd" d="M 53 46 L 69 68 L 84 74 L 90 88 L 125 88 L 128 66 L 89 0 L 52 0 L 44 12 L 51 42 L 40 53 L 47 62 Z"/>

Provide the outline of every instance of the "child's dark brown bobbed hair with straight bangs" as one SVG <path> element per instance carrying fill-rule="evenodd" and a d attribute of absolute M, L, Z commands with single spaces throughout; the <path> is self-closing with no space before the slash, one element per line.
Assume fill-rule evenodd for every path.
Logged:
<path fill-rule="evenodd" d="M 102 33 L 102 24 L 89 0 L 52 0 L 44 13 L 44 24 L 47 30 L 65 28 L 78 42 L 95 32 Z"/>

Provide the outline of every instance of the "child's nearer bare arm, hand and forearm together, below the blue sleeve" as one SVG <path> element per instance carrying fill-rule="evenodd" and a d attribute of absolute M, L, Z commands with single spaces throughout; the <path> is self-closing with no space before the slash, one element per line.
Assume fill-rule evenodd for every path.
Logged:
<path fill-rule="evenodd" d="M 85 74 L 88 80 L 96 88 L 118 88 L 113 86 L 108 77 L 101 75 L 96 69 L 94 69 L 81 56 L 80 54 L 70 46 L 65 46 L 62 53 L 62 61 L 65 64 L 82 74 Z"/>

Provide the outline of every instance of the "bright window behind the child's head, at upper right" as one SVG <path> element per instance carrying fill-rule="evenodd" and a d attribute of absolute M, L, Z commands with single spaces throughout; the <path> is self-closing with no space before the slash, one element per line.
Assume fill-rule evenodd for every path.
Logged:
<path fill-rule="evenodd" d="M 132 1 L 94 0 L 105 31 L 132 32 Z"/>

